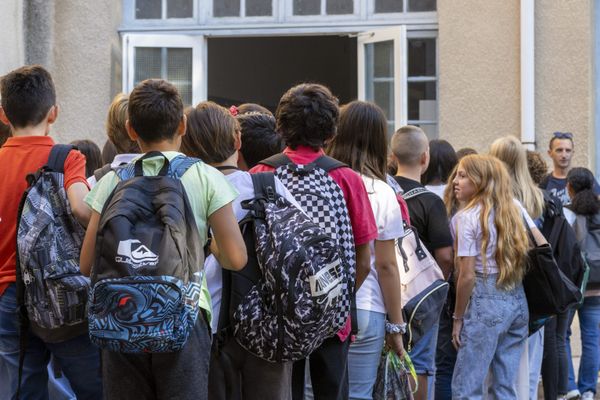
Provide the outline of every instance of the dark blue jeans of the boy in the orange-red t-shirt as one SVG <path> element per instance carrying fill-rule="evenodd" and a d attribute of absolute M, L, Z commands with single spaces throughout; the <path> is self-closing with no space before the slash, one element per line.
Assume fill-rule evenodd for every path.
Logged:
<path fill-rule="evenodd" d="M 48 362 L 50 354 L 60 365 L 78 399 L 101 399 L 100 357 L 88 335 L 81 335 L 61 343 L 44 343 L 29 333 L 21 398 L 48 399 Z M 0 399 L 11 399 L 18 385 L 19 320 L 17 315 L 16 286 L 10 285 L 0 296 L 0 371 L 3 383 Z"/>

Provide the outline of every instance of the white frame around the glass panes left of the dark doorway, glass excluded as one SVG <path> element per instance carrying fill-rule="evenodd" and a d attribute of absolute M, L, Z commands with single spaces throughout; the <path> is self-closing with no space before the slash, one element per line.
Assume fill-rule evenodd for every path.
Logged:
<path fill-rule="evenodd" d="M 123 91 L 131 92 L 135 80 L 135 48 L 192 49 L 192 104 L 207 98 L 206 39 L 202 35 L 125 34 L 123 36 Z"/>

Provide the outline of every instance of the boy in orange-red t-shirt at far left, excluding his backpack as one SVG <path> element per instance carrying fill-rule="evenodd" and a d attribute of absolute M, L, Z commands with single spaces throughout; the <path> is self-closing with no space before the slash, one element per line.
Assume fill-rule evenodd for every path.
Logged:
<path fill-rule="evenodd" d="M 17 213 L 25 177 L 46 164 L 54 145 L 48 136 L 58 106 L 50 74 L 41 66 L 18 68 L 0 80 L 0 121 L 12 137 L 0 149 L 0 398 L 11 398 L 18 385 L 19 327 L 16 301 Z M 90 209 L 83 202 L 89 188 L 85 157 L 71 151 L 64 164 L 64 186 L 73 215 L 87 225 Z M 76 349 L 76 350 L 75 350 Z M 29 332 L 21 384 L 22 398 L 47 398 L 50 354 L 60 364 L 78 398 L 102 398 L 98 349 L 87 334 L 61 343 L 45 343 Z"/>

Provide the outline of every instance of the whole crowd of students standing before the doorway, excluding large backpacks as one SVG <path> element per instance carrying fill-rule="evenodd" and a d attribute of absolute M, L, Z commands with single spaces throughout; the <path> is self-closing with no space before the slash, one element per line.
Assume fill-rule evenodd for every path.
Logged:
<path fill-rule="evenodd" d="M 78 150 L 64 161 L 69 209 L 85 227 L 80 271 L 94 282 L 97 264 L 104 268 L 107 262 L 98 237 L 108 224 L 107 208 L 131 200 L 113 196 L 123 189 L 128 166 L 155 176 L 182 156 L 192 157 L 195 161 L 174 176 L 197 229 L 192 247 L 206 255 L 198 318 L 183 347 L 169 352 L 105 347 L 98 352 L 87 332 L 56 343 L 30 330 L 20 368 L 16 259 L 28 255 L 15 248 L 19 203 L 26 176 L 46 165 L 51 154 L 48 134 L 59 108 L 52 78 L 40 66 L 2 77 L 0 95 L 0 121 L 10 127 L 0 149 L 0 163 L 10 166 L 0 175 L 0 399 L 15 398 L 19 387 L 24 399 L 60 398 L 59 391 L 78 399 L 371 399 L 384 346 L 400 356 L 408 352 L 417 374 L 415 399 L 535 399 L 542 359 L 546 399 L 562 398 L 567 389 L 593 398 L 600 358 L 597 284 L 588 285 L 579 309 L 588 347 L 578 387 L 564 356 L 574 311 L 551 318 L 545 333 L 528 339 L 522 284 L 528 231 L 538 244 L 546 243 L 539 229 L 545 204 L 521 143 L 507 136 L 496 140 L 489 154 L 459 158 L 448 142 L 429 142 L 415 126 L 400 128 L 390 141 L 378 106 L 353 101 L 340 107 L 329 89 L 311 83 L 289 89 L 275 115 L 256 104 L 226 109 L 207 101 L 184 109 L 175 87 L 157 79 L 118 95 L 108 113 L 106 166 L 86 172 L 86 157 Z M 550 150 L 564 141 L 572 150 L 572 136 L 560 135 Z M 83 150 L 84 144 L 78 145 Z M 282 157 L 272 157 L 277 154 L 285 162 L 275 162 Z M 533 168 L 540 159 L 530 157 Z M 328 168 L 319 167 L 323 160 Z M 317 189 L 309 182 L 298 190 L 301 173 L 290 172 L 305 166 L 320 168 L 319 182 L 332 185 L 326 201 L 337 209 L 324 218 L 337 227 L 328 233 L 343 248 L 344 265 L 354 271 L 354 311 L 306 359 L 273 362 L 244 347 L 231 331 L 220 331 L 221 314 L 227 312 L 221 303 L 231 297 L 224 277 L 243 270 L 255 256 L 255 244 L 238 225 L 257 196 L 252 174 L 274 172 L 278 196 L 319 215 Z M 587 169 L 568 173 L 571 206 L 565 213 L 574 225 L 582 216 L 600 223 L 594 185 Z M 408 226 L 453 290 L 438 323 L 405 349 L 398 243 Z M 582 241 L 584 233 L 578 236 Z M 147 257 L 148 248 L 144 251 Z M 125 254 L 121 246 L 119 254 Z M 543 344 L 550 331 L 554 340 Z"/>

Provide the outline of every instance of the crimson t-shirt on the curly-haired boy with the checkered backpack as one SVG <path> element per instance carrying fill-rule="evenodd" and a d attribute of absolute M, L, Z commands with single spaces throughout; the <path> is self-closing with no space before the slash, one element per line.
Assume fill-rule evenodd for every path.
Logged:
<path fill-rule="evenodd" d="M 320 156 L 323 150 L 315 151 L 308 146 L 298 146 L 296 149 L 286 147 L 283 154 L 288 156 L 295 164 L 310 164 Z M 271 172 L 273 168 L 258 164 L 250 172 Z M 360 176 L 348 167 L 336 168 L 329 172 L 329 176 L 342 188 L 348 216 L 354 233 L 354 243 L 357 246 L 367 244 L 377 238 L 377 225 L 369 202 L 367 189 Z"/>

